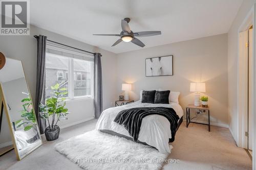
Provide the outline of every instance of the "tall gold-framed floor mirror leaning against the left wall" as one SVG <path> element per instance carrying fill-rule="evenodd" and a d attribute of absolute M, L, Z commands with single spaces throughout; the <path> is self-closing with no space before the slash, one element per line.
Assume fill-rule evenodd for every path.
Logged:
<path fill-rule="evenodd" d="M 0 98 L 3 106 L 0 146 L 9 142 L 20 160 L 42 144 L 21 61 L 6 58 L 5 66 L 0 69 Z"/>

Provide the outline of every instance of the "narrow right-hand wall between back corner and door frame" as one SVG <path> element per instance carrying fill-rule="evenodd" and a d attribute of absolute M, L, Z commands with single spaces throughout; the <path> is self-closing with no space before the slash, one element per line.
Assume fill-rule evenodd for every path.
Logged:
<path fill-rule="evenodd" d="M 238 140 L 237 69 L 238 29 L 256 0 L 243 1 L 230 30 L 228 31 L 228 120 L 233 138 Z"/>

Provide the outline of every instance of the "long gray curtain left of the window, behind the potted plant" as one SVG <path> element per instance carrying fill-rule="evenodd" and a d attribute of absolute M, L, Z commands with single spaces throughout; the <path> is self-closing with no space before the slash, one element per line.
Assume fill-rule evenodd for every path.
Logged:
<path fill-rule="evenodd" d="M 41 134 L 45 133 L 46 120 L 40 116 L 39 105 L 45 104 L 45 85 L 46 85 L 46 42 L 47 37 L 43 35 L 34 36 L 37 39 L 37 70 L 36 70 L 36 98 L 35 114 Z"/>

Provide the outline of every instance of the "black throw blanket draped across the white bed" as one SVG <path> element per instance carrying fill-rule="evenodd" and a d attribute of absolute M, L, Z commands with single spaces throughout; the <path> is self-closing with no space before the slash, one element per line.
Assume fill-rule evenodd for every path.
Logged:
<path fill-rule="evenodd" d="M 133 137 L 134 141 L 138 140 L 140 126 L 142 119 L 145 116 L 157 114 L 166 117 L 170 122 L 170 131 L 172 132 L 172 139 L 170 142 L 173 142 L 175 139 L 176 128 L 178 126 L 179 116 L 176 114 L 173 108 L 166 107 L 138 107 L 132 109 L 122 110 L 118 113 L 114 122 L 122 125 L 129 134 Z"/>

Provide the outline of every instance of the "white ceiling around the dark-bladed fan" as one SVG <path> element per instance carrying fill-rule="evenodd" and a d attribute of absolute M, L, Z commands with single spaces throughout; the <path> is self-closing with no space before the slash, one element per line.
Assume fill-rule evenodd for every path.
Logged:
<path fill-rule="evenodd" d="M 138 50 L 131 42 L 111 47 L 119 37 L 121 19 L 130 17 L 131 30 L 162 31 L 140 37 L 146 47 L 227 33 L 242 0 L 33 0 L 31 25 L 114 53 Z"/>

